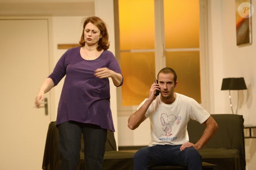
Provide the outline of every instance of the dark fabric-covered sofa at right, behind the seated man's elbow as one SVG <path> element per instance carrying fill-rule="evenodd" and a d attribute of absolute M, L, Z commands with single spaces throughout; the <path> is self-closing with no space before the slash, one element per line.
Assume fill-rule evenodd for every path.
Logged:
<path fill-rule="evenodd" d="M 218 130 L 199 150 L 202 162 L 217 165 L 215 170 L 245 170 L 245 135 L 242 115 L 211 115 L 218 123 Z M 188 122 L 189 141 L 196 143 L 205 126 L 194 120 Z"/>

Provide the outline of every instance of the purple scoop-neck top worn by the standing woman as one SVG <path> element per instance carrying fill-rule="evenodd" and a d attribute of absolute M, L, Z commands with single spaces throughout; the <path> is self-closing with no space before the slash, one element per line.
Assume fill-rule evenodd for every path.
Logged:
<path fill-rule="evenodd" d="M 66 75 L 58 106 L 56 125 L 76 121 L 115 131 L 110 110 L 109 78 L 96 78 L 94 70 L 108 67 L 121 74 L 112 52 L 105 50 L 94 60 L 85 60 L 80 48 L 68 49 L 49 78 L 57 85 Z M 123 84 L 124 78 L 120 85 Z M 119 85 L 119 86 L 120 86 Z"/>

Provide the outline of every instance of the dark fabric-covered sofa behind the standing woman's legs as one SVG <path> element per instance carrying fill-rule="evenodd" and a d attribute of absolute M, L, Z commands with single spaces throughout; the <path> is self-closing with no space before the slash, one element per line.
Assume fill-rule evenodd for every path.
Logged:
<path fill-rule="evenodd" d="M 83 155 L 83 137 L 81 137 L 80 159 L 78 170 L 86 170 Z M 58 129 L 56 122 L 50 122 L 43 156 L 43 170 L 60 170 L 60 154 L 58 149 Z M 133 170 L 134 152 L 117 151 L 114 133 L 108 130 L 105 143 L 103 170 Z"/>

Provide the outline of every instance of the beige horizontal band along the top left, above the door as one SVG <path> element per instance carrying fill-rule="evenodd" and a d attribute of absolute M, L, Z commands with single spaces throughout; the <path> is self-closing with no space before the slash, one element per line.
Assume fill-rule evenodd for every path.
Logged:
<path fill-rule="evenodd" d="M 1 15 L 94 15 L 94 0 L 0 0 Z"/>

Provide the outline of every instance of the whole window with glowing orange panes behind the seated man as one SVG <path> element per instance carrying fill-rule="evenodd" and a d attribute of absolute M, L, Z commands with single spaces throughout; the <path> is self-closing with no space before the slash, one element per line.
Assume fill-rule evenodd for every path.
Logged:
<path fill-rule="evenodd" d="M 115 5 L 119 9 L 116 56 L 124 74 L 124 85 L 117 92 L 118 115 L 136 110 L 163 67 L 176 70 L 176 92 L 207 107 L 208 100 L 202 100 L 208 97 L 207 73 L 202 72 L 207 67 L 205 46 L 200 43 L 206 18 L 200 13 L 206 4 L 200 0 L 116 0 Z"/>

